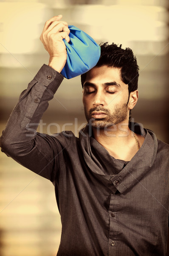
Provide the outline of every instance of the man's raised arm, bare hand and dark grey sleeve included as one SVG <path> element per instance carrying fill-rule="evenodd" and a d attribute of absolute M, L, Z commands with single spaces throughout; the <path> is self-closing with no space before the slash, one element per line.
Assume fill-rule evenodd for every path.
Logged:
<path fill-rule="evenodd" d="M 54 97 L 63 80 L 60 72 L 67 53 L 62 39 L 70 39 L 68 24 L 61 22 L 61 17 L 55 16 L 45 23 L 40 39 L 49 52 L 49 65 L 44 64 L 28 84 L 27 90 L 21 93 L 0 138 L 3 152 L 51 181 L 54 180 L 63 148 L 54 137 L 36 133 L 36 129 L 48 108 L 48 101 Z"/>

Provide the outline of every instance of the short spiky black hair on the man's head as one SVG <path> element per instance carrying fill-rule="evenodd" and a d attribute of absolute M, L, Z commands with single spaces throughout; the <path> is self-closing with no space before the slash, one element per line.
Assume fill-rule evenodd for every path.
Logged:
<path fill-rule="evenodd" d="M 101 55 L 95 67 L 106 65 L 121 69 L 121 80 L 128 84 L 129 96 L 138 88 L 138 64 L 135 55 L 130 48 L 122 49 L 121 45 L 101 43 Z M 86 73 L 81 75 L 82 87 L 85 82 Z"/>

